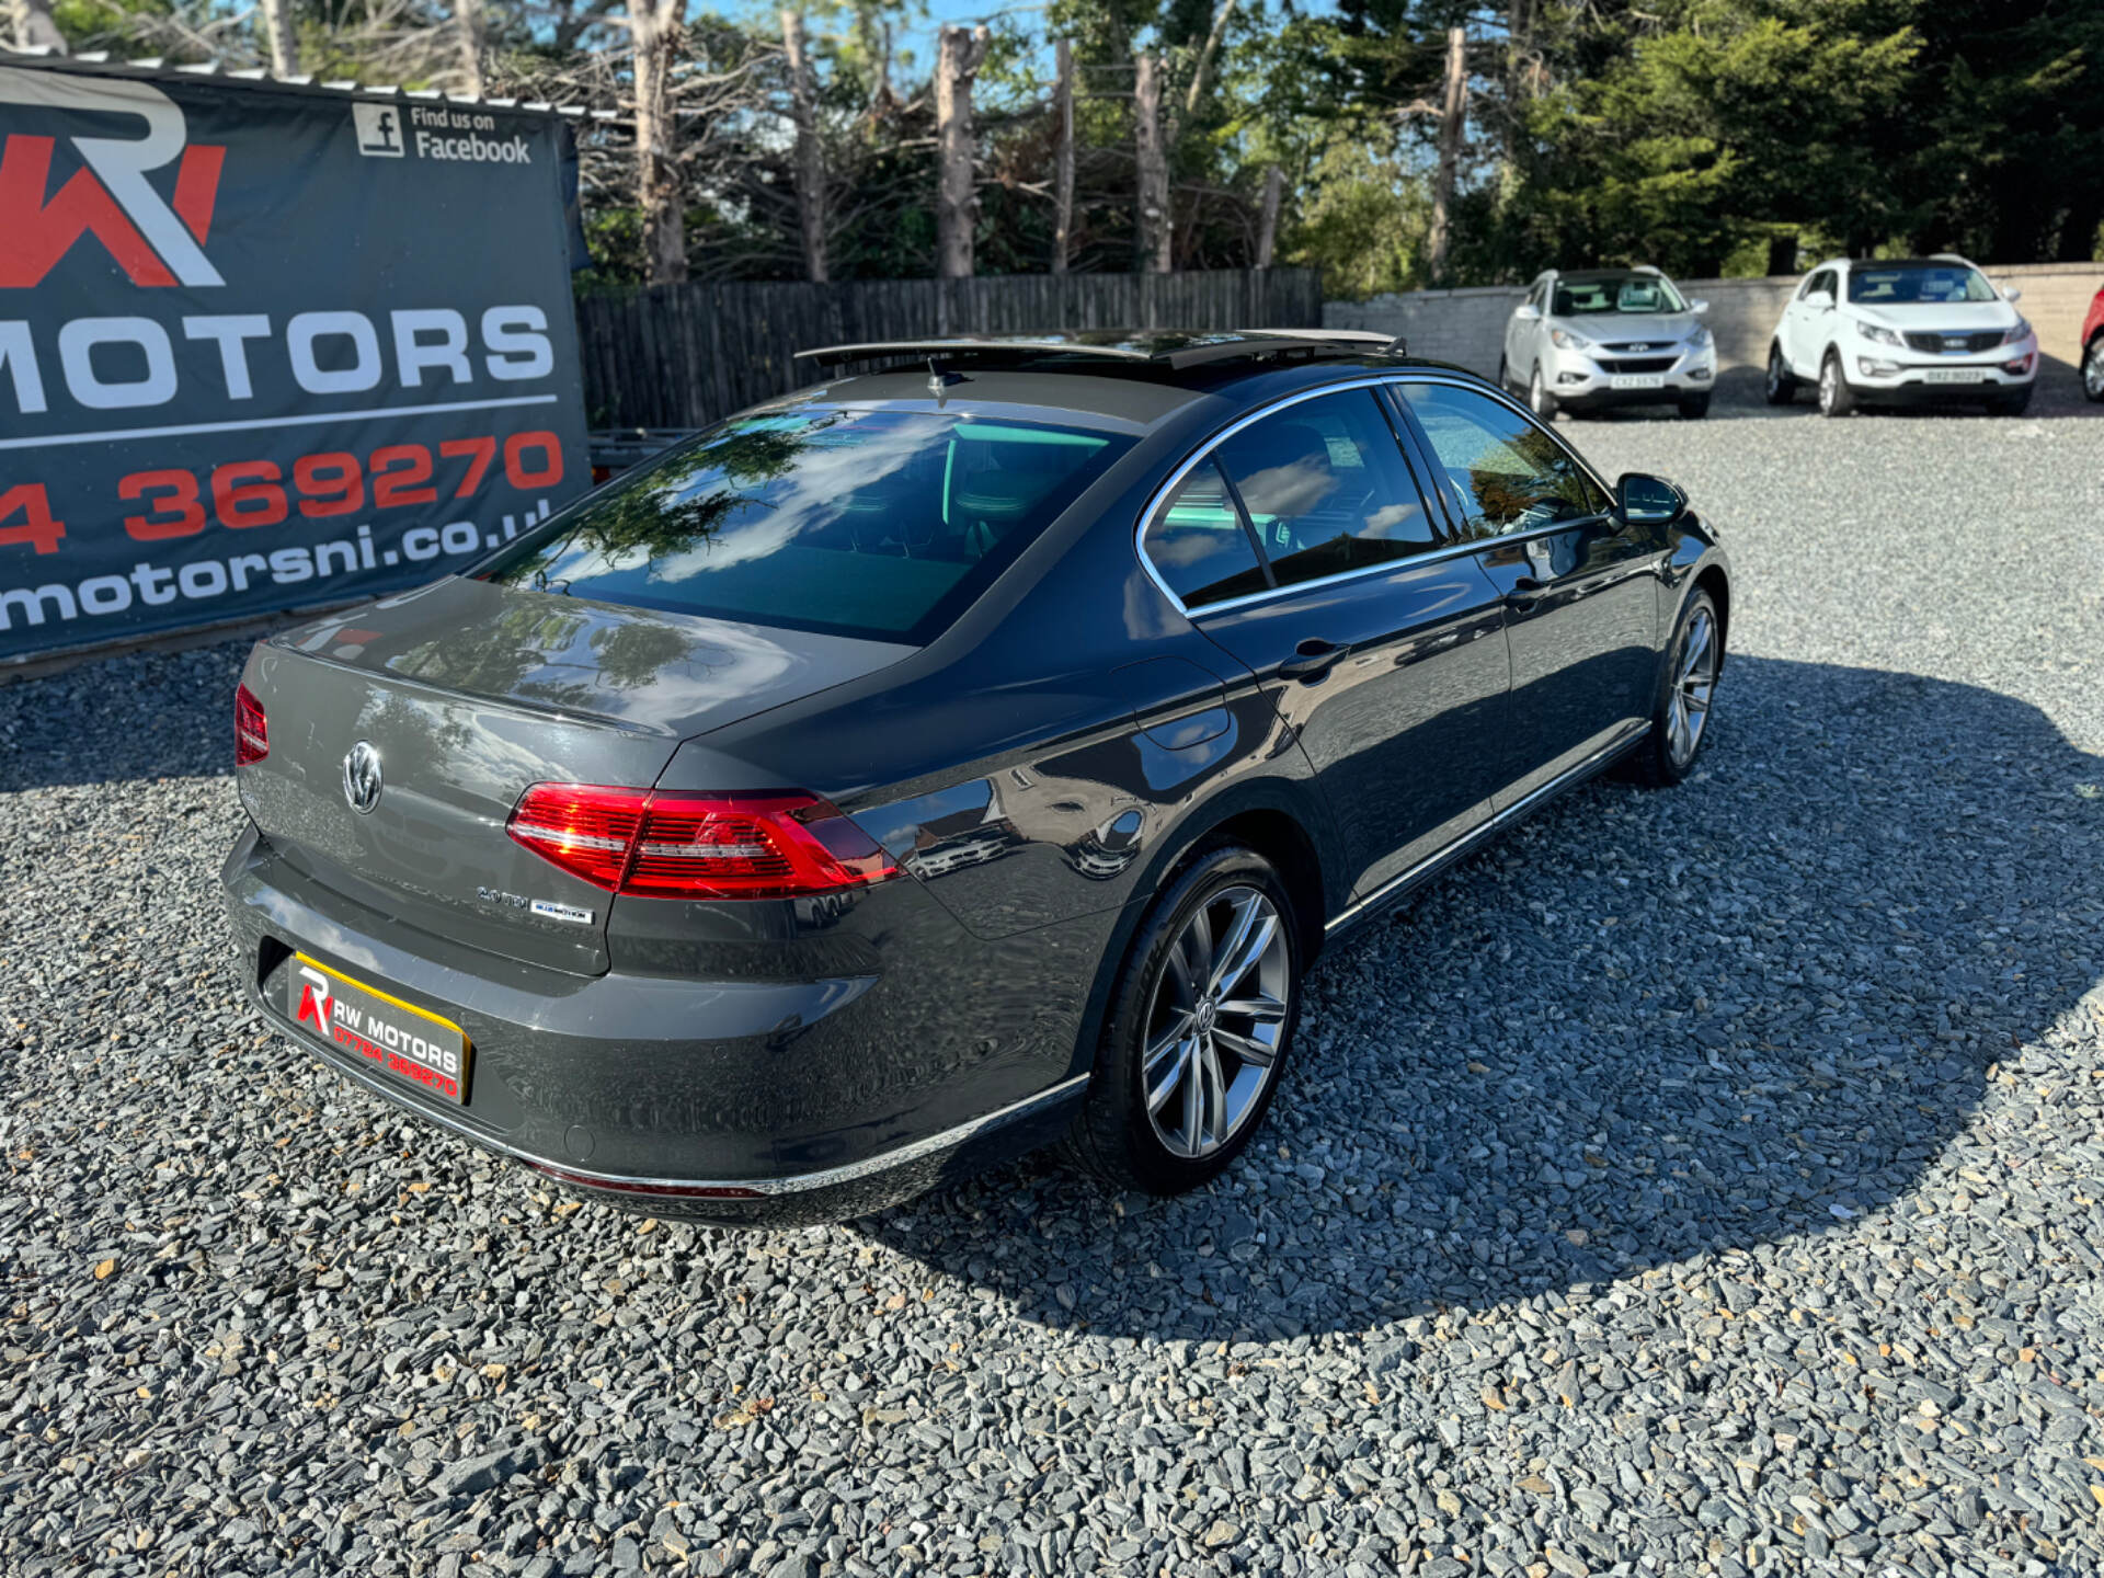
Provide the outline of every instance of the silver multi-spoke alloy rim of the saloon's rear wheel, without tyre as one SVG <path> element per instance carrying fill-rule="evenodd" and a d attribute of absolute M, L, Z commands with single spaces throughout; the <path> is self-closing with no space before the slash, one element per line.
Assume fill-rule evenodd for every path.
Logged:
<path fill-rule="evenodd" d="M 1260 1107 L 1290 993 L 1286 922 L 1271 898 L 1233 886 L 1193 911 L 1155 983 L 1140 1058 L 1147 1121 L 1172 1155 L 1212 1155 Z"/>

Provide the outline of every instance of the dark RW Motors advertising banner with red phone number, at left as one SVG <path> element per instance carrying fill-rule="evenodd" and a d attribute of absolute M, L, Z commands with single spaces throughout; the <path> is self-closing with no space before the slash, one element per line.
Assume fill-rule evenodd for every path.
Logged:
<path fill-rule="evenodd" d="M 568 154 L 0 63 L 0 661 L 431 581 L 581 492 Z"/>

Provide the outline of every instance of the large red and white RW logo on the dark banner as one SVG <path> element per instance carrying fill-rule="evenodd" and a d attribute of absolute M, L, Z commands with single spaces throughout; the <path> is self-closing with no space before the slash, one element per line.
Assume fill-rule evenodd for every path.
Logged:
<path fill-rule="evenodd" d="M 143 135 L 74 133 L 65 141 L 82 168 L 55 191 L 50 162 L 59 137 L 6 135 L 0 143 L 0 290 L 44 282 L 74 242 L 93 236 L 139 286 L 225 284 L 204 257 L 219 200 L 225 147 L 191 143 L 177 103 L 145 82 L 72 78 L 57 72 L 0 72 L 0 105 L 97 116 L 97 128 L 143 124 Z M 166 170 L 168 196 L 149 181 Z"/>

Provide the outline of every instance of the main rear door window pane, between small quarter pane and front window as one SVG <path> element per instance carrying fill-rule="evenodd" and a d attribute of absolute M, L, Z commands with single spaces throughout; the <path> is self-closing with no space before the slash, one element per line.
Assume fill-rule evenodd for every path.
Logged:
<path fill-rule="evenodd" d="M 1372 389 L 1302 400 L 1216 450 L 1281 587 L 1437 545 Z"/>

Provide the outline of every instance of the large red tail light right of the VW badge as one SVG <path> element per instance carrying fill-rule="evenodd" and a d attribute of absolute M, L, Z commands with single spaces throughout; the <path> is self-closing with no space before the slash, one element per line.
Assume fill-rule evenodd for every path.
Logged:
<path fill-rule="evenodd" d="M 507 831 L 595 888 L 650 898 L 804 898 L 898 875 L 861 827 L 806 793 L 537 783 Z"/>

